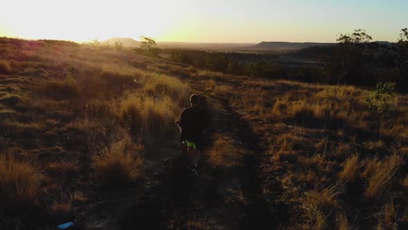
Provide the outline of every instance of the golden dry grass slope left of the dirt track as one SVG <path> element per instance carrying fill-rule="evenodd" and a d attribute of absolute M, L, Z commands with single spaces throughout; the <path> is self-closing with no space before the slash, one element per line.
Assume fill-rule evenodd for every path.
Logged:
<path fill-rule="evenodd" d="M 136 186 L 142 155 L 166 148 L 154 140 L 177 139 L 190 89 L 148 57 L 98 41 L 1 38 L 0 50 L 0 229 L 49 227 Z"/>

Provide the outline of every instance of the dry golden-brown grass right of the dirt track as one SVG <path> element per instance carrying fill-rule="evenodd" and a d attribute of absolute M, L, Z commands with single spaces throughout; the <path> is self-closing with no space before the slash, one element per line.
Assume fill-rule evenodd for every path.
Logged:
<path fill-rule="evenodd" d="M 201 75 L 203 79 L 210 76 Z M 288 229 L 352 229 L 360 224 L 375 227 L 377 220 L 372 217 L 378 210 L 364 202 L 356 204 L 356 197 L 365 195 L 369 201 L 376 197 L 375 202 L 381 206 L 388 202 L 383 199 L 384 193 L 399 197 L 408 191 L 407 172 L 400 170 L 394 177 L 406 159 L 402 153 L 408 152 L 404 96 L 396 97 L 393 104 L 398 105 L 398 117 L 384 121 L 378 138 L 375 114 L 369 112 L 365 101 L 369 91 L 365 89 L 287 80 L 207 79 L 203 85 L 215 94 L 219 85 L 234 87 L 240 83 L 234 96 L 225 97 L 233 101 L 234 108 L 254 125 L 266 142 L 262 144 L 268 146 L 267 157 L 261 159 L 266 177 L 262 189 L 276 189 L 270 177 L 281 182 L 278 199 L 293 210 L 291 224 L 285 226 Z M 400 157 L 387 157 L 391 152 Z M 299 198 L 303 194 L 306 197 Z M 276 200 L 277 194 L 270 193 L 267 198 Z M 402 200 L 398 200 L 399 206 L 405 205 Z M 348 210 L 353 209 L 370 214 L 349 219 Z"/>

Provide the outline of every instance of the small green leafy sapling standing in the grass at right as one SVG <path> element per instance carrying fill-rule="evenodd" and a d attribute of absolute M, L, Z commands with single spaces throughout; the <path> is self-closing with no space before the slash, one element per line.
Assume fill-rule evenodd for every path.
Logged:
<path fill-rule="evenodd" d="M 395 88 L 396 83 L 394 82 L 378 82 L 375 90 L 366 98 L 369 110 L 375 112 L 378 136 L 380 136 L 380 128 L 384 118 L 389 118 L 393 114 L 394 109 L 389 100 L 394 97 Z"/>

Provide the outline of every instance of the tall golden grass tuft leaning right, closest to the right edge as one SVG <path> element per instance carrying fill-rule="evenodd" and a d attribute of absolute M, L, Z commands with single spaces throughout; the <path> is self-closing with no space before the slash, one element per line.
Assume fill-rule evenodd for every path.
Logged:
<path fill-rule="evenodd" d="M 400 156 L 393 154 L 382 162 L 373 159 L 367 163 L 367 168 L 363 173 L 369 180 L 366 191 L 367 198 L 377 197 L 384 187 L 391 183 L 391 179 L 400 167 L 401 161 Z"/>

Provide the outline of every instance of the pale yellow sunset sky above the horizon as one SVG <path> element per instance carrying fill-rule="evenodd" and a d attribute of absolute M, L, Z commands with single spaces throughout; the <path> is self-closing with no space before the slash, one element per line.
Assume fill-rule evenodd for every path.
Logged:
<path fill-rule="evenodd" d="M 407 0 L 0 0 L 0 37 L 86 42 L 335 42 L 362 28 L 396 42 Z"/>

